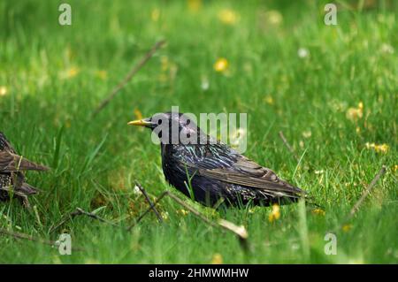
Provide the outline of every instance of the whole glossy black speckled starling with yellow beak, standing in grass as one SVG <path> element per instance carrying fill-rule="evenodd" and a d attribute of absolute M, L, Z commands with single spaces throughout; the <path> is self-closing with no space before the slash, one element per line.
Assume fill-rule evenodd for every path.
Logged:
<path fill-rule="evenodd" d="M 269 206 L 297 202 L 305 194 L 269 168 L 215 141 L 184 114 L 161 113 L 128 124 L 148 127 L 157 134 L 165 179 L 203 205 L 214 207 L 225 202 L 235 207 L 248 203 Z M 162 124 L 168 130 L 159 131 Z M 195 142 L 172 141 L 172 128 L 185 136 L 195 136 Z"/>

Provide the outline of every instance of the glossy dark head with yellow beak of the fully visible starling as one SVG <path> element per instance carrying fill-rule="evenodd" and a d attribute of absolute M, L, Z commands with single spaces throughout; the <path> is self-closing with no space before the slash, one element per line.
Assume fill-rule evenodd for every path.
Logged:
<path fill-rule="evenodd" d="M 150 118 L 130 121 L 130 126 L 144 126 L 157 134 L 162 144 L 188 144 L 207 139 L 192 117 L 179 112 L 157 113 Z"/>

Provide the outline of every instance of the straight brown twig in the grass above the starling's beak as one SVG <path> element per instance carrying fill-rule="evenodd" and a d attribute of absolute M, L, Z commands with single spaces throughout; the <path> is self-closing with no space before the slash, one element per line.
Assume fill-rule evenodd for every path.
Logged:
<path fill-rule="evenodd" d="M 130 81 L 135 73 L 137 73 L 138 71 L 141 70 L 142 66 L 145 65 L 149 59 L 155 54 L 155 52 L 162 47 L 165 44 L 165 40 L 161 40 L 159 42 L 157 42 L 146 54 L 144 57 L 142 57 L 142 59 L 140 60 L 140 62 L 138 62 L 137 65 L 134 65 L 134 67 L 131 69 L 130 72 L 127 73 L 126 77 L 124 78 L 124 80 L 121 80 L 119 82 L 119 84 L 113 88 L 111 90 L 111 93 L 103 100 L 102 103 L 99 104 L 99 106 L 96 108 L 96 111 L 93 112 L 93 117 L 96 116 L 96 114 L 100 111 L 103 110 L 103 108 L 105 108 L 108 103 L 111 102 L 111 100 L 119 93 L 119 91 L 124 88 L 127 84 L 128 81 Z"/>

